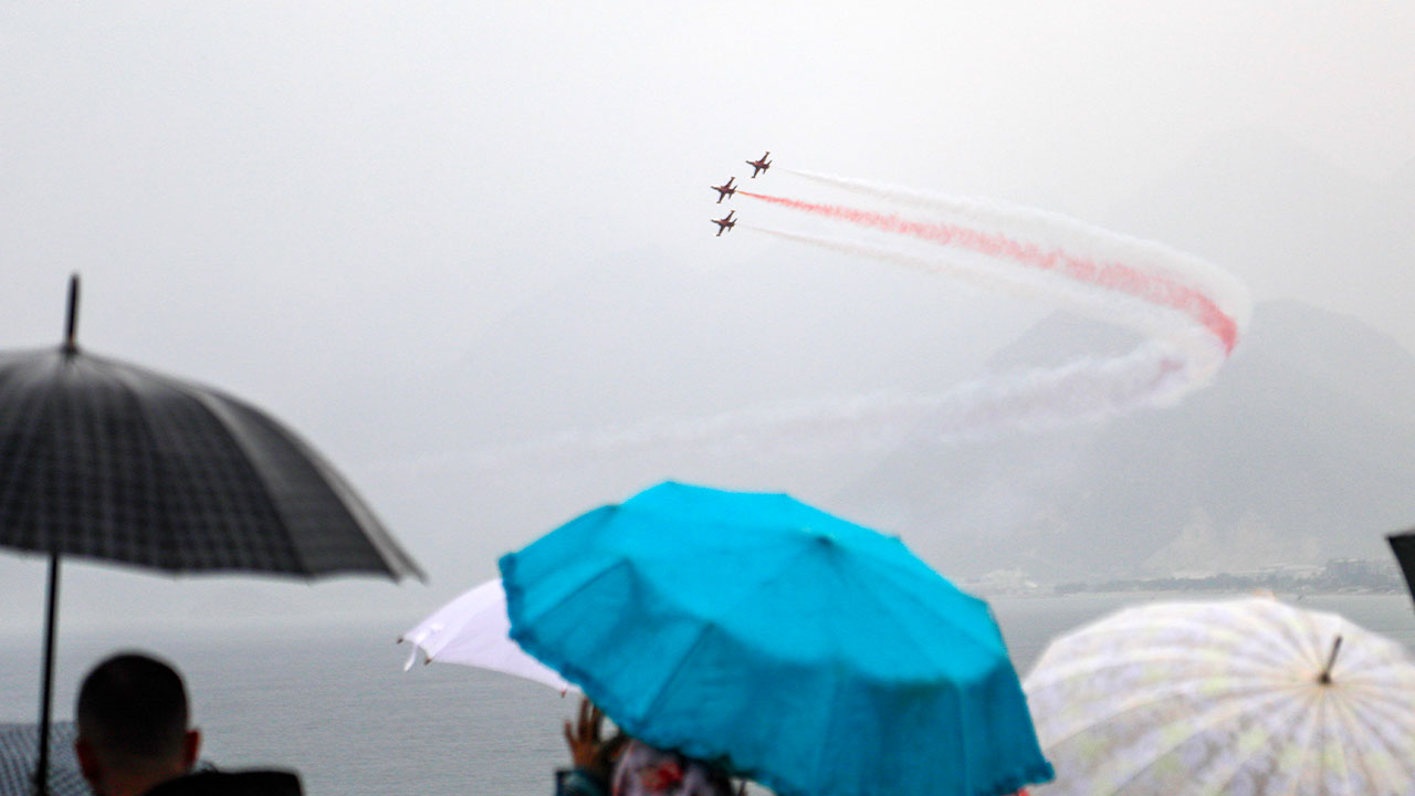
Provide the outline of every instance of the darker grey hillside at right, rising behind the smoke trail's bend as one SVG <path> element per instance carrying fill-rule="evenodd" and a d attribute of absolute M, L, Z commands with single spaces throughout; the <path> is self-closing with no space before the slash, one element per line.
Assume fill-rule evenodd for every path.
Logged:
<path fill-rule="evenodd" d="M 989 368 L 1122 351 L 1054 316 Z M 1415 357 L 1360 322 L 1259 305 L 1208 388 L 1172 409 L 890 456 L 841 499 L 954 575 L 1058 581 L 1388 555 L 1415 524 Z M 923 432 L 921 432 L 923 438 Z M 839 504 L 838 504 L 839 506 Z"/>

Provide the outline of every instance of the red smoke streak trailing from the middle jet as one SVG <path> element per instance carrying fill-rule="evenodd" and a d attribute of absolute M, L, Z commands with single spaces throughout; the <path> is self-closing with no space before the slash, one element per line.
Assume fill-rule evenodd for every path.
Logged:
<path fill-rule="evenodd" d="M 1043 251 L 1034 244 L 1015 241 L 999 232 L 983 232 L 958 224 L 931 224 L 924 221 L 910 221 L 899 215 L 856 210 L 838 204 L 814 204 L 750 191 L 737 191 L 741 195 L 757 198 L 766 203 L 801 210 L 815 215 L 824 215 L 839 221 L 848 221 L 860 227 L 870 227 L 884 232 L 911 235 L 945 246 L 958 246 L 981 255 L 1010 259 L 1020 265 L 1039 271 L 1054 271 L 1078 282 L 1095 285 L 1109 290 L 1119 290 L 1142 299 L 1145 302 L 1176 309 L 1199 320 L 1224 344 L 1225 353 L 1232 353 L 1238 343 L 1238 324 L 1218 309 L 1208 296 L 1201 292 L 1166 279 L 1163 276 L 1145 273 L 1139 269 L 1118 262 L 1097 263 L 1092 259 L 1071 255 L 1063 249 Z"/>

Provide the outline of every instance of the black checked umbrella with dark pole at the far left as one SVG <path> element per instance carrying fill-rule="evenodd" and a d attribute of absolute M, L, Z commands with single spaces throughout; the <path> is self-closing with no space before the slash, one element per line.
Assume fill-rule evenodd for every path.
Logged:
<path fill-rule="evenodd" d="M 48 766 L 59 557 L 167 572 L 423 574 L 318 453 L 255 406 L 75 343 L 0 353 L 0 545 L 50 557 Z"/>

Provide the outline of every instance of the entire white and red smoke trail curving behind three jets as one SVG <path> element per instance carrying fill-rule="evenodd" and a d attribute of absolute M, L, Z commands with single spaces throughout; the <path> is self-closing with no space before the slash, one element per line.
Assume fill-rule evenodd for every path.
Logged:
<path fill-rule="evenodd" d="M 784 169 L 785 170 L 785 169 Z M 988 377 L 941 394 L 874 392 L 726 412 L 710 418 L 658 418 L 620 428 L 567 432 L 499 453 L 545 456 L 565 450 L 634 450 L 693 445 L 717 450 L 832 445 L 850 429 L 855 448 L 896 446 L 920 429 L 940 440 L 1003 429 L 1037 431 L 1104 421 L 1146 406 L 1172 405 L 1207 384 L 1247 329 L 1247 288 L 1189 254 L 1081 221 L 1023 207 L 932 195 L 791 171 L 869 197 L 882 210 L 811 203 L 739 190 L 757 201 L 869 231 L 874 239 L 824 238 L 749 227 L 794 242 L 938 273 L 1139 331 L 1146 341 L 1121 357 L 1082 357 L 1057 368 Z M 904 215 L 908 212 L 910 215 Z"/>

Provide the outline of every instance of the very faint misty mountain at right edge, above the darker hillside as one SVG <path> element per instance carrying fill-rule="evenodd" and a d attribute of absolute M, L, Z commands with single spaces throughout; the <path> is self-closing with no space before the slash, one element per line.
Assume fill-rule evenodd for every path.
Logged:
<path fill-rule="evenodd" d="M 1281 130 L 1234 130 L 1133 186 L 1104 222 L 1228 268 L 1259 296 L 1315 296 L 1415 339 L 1415 161 L 1339 169 Z"/>

